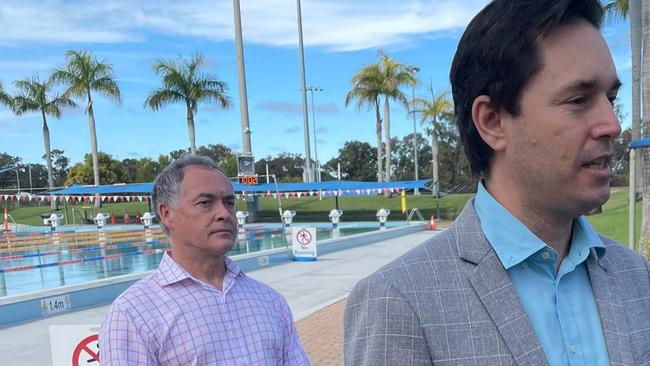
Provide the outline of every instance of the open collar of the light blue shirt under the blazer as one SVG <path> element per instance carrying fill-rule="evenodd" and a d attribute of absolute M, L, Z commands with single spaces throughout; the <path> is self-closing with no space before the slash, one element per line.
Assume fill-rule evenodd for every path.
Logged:
<path fill-rule="evenodd" d="M 488 192 L 483 182 L 478 184 L 474 207 L 481 222 L 481 230 L 494 248 L 495 253 L 505 269 L 510 269 L 523 262 L 538 251 L 548 246 L 537 237 L 519 219 L 512 215 Z M 572 242 L 569 256 L 572 260 L 582 262 L 572 256 L 573 253 L 589 253 L 591 248 L 596 248 L 598 257 L 605 252 L 605 245 L 598 234 L 583 216 L 573 222 Z M 581 250 L 581 249 L 586 250 Z"/>

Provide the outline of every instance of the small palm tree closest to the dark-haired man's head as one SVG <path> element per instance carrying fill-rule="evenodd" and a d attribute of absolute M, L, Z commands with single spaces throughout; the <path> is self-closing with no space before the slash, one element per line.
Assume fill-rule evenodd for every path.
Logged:
<path fill-rule="evenodd" d="M 433 194 L 438 196 L 440 190 L 439 176 L 438 176 L 438 130 L 440 129 L 441 121 L 446 116 L 451 115 L 454 110 L 453 103 L 449 99 L 449 92 L 433 92 L 433 85 L 429 83 L 429 92 L 431 99 L 416 98 L 413 101 L 413 108 L 411 113 L 420 115 L 420 122 L 423 126 L 429 126 L 431 133 L 431 156 L 433 164 Z"/>

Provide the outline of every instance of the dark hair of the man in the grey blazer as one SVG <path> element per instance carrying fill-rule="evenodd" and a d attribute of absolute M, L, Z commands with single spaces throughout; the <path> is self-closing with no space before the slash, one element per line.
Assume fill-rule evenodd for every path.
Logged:
<path fill-rule="evenodd" d="M 489 173 L 494 151 L 474 126 L 474 100 L 487 95 L 495 108 L 517 116 L 521 91 L 542 68 L 539 41 L 555 28 L 579 21 L 600 29 L 602 17 L 599 0 L 495 0 L 472 19 L 449 79 L 456 125 L 475 175 Z"/>

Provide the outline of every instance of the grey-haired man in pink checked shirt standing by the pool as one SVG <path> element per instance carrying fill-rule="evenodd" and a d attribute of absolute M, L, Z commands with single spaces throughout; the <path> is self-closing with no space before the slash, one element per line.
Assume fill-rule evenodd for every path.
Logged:
<path fill-rule="evenodd" d="M 171 239 L 158 269 L 111 306 L 99 334 L 111 365 L 309 365 L 284 298 L 226 257 L 235 195 L 215 163 L 190 155 L 156 178 Z"/>

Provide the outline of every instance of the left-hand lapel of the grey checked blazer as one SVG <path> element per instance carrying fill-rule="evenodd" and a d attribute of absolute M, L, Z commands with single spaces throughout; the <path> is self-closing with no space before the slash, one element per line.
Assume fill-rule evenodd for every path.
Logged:
<path fill-rule="evenodd" d="M 548 365 L 537 334 L 510 277 L 481 231 L 470 200 L 455 224 L 457 247 L 462 259 L 476 264 L 469 280 L 481 299 L 517 365 Z"/>

